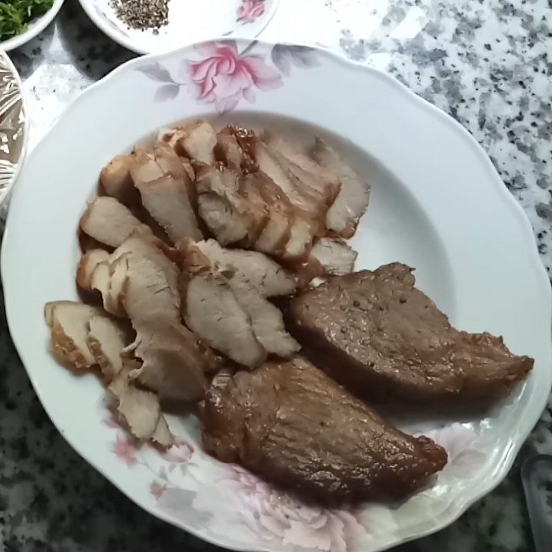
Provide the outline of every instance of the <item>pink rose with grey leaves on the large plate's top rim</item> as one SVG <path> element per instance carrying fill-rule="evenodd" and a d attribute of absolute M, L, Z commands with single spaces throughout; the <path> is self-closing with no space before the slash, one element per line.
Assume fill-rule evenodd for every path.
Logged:
<path fill-rule="evenodd" d="M 170 71 L 159 63 L 138 69 L 161 84 L 155 101 L 174 100 L 185 87 L 196 101 L 213 106 L 221 115 L 234 110 L 242 100 L 254 103 L 257 90 L 281 87 L 282 75 L 288 77 L 291 66 L 318 64 L 312 48 L 277 44 L 268 53 L 257 41 L 241 51 L 235 41 L 206 42 L 196 46 L 195 52 L 197 59 L 184 60 L 179 70 Z"/>

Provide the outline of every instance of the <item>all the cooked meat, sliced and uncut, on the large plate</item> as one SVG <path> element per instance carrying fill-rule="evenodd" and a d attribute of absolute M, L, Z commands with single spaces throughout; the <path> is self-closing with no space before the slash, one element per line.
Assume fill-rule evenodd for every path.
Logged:
<path fill-rule="evenodd" d="M 164 130 L 102 170 L 52 352 L 99 368 L 139 440 L 171 446 L 161 405 L 197 404 L 219 460 L 317 500 L 405 497 L 446 452 L 364 401 L 493 400 L 533 360 L 455 330 L 407 266 L 354 273 L 368 195 L 319 139 Z"/>

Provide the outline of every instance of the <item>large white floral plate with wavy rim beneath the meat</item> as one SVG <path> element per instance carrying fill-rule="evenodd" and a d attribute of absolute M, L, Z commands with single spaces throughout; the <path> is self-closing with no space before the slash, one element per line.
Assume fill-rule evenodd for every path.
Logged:
<path fill-rule="evenodd" d="M 43 305 L 77 299 L 75 228 L 100 168 L 155 129 L 197 117 L 315 129 L 372 184 L 353 242 L 357 267 L 415 266 L 455 326 L 504 335 L 513 352 L 535 358 L 526 384 L 484 415 L 395 412 L 406 431 L 449 452 L 444 471 L 407 502 L 299 504 L 204 454 L 193 416 L 170 417 L 178 442 L 169 453 L 137 449 L 108 416 L 97 379 L 73 376 L 48 353 Z M 59 431 L 144 509 L 230 549 L 373 552 L 437 531 L 506 475 L 551 386 L 549 281 L 529 221 L 491 161 L 395 79 L 307 48 L 205 43 L 137 59 L 92 86 L 23 168 L 1 269 L 12 337 Z"/>

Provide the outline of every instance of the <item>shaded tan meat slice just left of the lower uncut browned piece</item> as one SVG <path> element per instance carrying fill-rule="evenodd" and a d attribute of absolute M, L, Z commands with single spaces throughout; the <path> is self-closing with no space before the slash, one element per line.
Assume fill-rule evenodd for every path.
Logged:
<path fill-rule="evenodd" d="M 204 396 L 206 374 L 219 359 L 179 320 L 163 314 L 135 319 L 135 342 L 128 347 L 142 364 L 132 379 L 155 391 L 161 400 L 196 402 Z"/>

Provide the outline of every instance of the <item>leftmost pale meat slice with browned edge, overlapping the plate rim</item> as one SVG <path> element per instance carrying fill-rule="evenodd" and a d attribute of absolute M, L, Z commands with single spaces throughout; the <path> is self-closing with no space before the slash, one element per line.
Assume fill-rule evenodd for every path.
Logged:
<path fill-rule="evenodd" d="M 77 371 L 95 366 L 88 348 L 88 322 L 101 309 L 72 301 L 55 301 L 44 307 L 44 319 L 50 328 L 50 348 L 55 358 Z"/>

